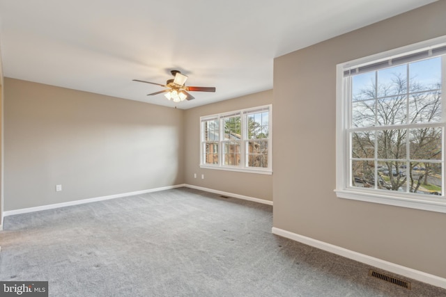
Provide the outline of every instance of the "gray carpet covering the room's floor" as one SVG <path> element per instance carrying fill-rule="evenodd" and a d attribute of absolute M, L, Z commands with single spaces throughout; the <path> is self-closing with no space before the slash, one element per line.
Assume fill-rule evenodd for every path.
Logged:
<path fill-rule="evenodd" d="M 3 227 L 0 280 L 47 280 L 49 296 L 446 296 L 273 235 L 271 206 L 190 188 L 8 216 Z"/>

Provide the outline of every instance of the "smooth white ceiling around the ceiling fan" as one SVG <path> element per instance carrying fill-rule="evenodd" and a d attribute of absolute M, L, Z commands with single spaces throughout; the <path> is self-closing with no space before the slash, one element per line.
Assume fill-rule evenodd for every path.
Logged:
<path fill-rule="evenodd" d="M 433 0 L 0 0 L 3 75 L 164 106 L 180 70 L 180 109 L 272 88 L 273 58 Z"/>

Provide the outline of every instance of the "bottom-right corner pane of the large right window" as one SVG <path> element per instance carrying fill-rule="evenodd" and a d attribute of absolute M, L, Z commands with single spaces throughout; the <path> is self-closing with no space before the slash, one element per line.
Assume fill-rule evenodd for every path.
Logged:
<path fill-rule="evenodd" d="M 410 163 L 410 192 L 441 195 L 442 172 L 440 163 Z"/>

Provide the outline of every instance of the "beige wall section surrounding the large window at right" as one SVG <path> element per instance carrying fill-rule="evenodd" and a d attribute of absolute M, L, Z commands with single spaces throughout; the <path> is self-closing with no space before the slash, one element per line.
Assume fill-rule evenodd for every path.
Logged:
<path fill-rule="evenodd" d="M 274 227 L 446 278 L 446 214 L 333 193 L 336 65 L 440 35 L 446 1 L 275 59 Z"/>

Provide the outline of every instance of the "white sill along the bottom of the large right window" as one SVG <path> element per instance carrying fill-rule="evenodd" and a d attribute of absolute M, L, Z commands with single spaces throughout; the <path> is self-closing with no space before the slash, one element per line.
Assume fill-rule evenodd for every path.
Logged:
<path fill-rule="evenodd" d="M 411 209 L 422 209 L 426 211 L 436 211 L 446 214 L 446 199 L 443 202 L 433 199 L 420 199 L 405 197 L 405 195 L 381 195 L 377 193 L 366 193 L 355 190 L 334 190 L 337 198 L 360 200 L 365 202 L 393 205 L 397 207 L 408 207 Z"/>

